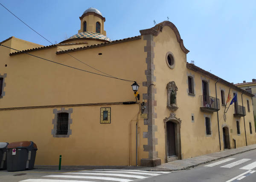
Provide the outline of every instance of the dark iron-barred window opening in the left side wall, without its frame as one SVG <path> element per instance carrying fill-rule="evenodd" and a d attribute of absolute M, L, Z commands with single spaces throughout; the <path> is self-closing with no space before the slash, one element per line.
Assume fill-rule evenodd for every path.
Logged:
<path fill-rule="evenodd" d="M 68 132 L 68 113 L 58 113 L 56 135 L 67 135 Z"/>

